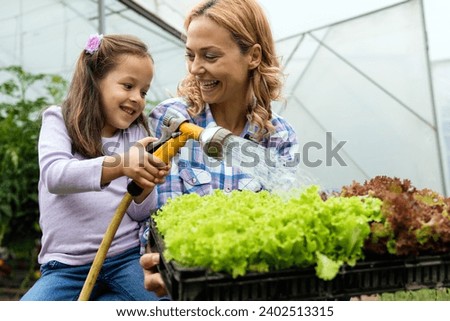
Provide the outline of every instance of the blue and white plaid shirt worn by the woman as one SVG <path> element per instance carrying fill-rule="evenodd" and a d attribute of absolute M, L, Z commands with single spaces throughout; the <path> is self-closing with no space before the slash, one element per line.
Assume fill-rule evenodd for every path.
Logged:
<path fill-rule="evenodd" d="M 187 104 L 181 98 L 163 101 L 150 113 L 149 125 L 154 137 L 161 137 L 163 119 L 168 109 L 174 109 L 183 114 L 191 123 L 202 128 L 217 126 L 211 114 L 209 105 L 195 117 L 187 112 Z M 297 137 L 293 128 L 280 116 L 272 115 L 272 124 L 275 132 L 266 134 L 258 142 L 261 146 L 270 149 L 269 152 L 279 156 L 281 160 L 289 161 L 297 151 Z M 247 122 L 241 137 L 249 138 L 256 132 L 256 126 Z M 157 210 L 169 198 L 178 195 L 197 193 L 206 195 L 214 189 L 230 192 L 235 189 L 254 190 L 264 189 L 258 177 L 252 177 L 241 171 L 239 166 L 232 166 L 226 162 L 213 161 L 203 153 L 200 143 L 193 139 L 172 158 L 172 168 L 164 184 L 157 185 Z"/>

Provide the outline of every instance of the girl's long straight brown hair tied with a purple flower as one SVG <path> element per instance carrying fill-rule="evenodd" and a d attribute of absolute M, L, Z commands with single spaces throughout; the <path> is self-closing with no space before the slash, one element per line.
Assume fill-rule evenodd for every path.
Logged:
<path fill-rule="evenodd" d="M 62 114 L 74 152 L 85 157 L 103 155 L 102 128 L 105 115 L 100 105 L 99 80 L 113 70 L 123 55 L 150 57 L 148 47 L 131 35 L 105 35 L 93 54 L 83 50 L 76 63 L 75 72 L 62 103 Z M 147 133 L 148 124 L 142 113 L 134 122 L 141 124 Z"/>

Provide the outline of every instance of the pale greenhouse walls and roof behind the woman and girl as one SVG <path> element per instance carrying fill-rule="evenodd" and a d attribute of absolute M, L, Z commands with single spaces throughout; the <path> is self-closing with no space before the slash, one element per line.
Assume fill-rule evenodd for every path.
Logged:
<path fill-rule="evenodd" d="M 183 17 L 196 2 L 0 0 L 0 67 L 69 80 L 90 34 L 134 34 L 155 60 L 158 102 L 186 73 Z M 387 175 L 448 196 L 450 2 L 260 3 L 287 75 L 274 110 L 297 131 L 304 169 L 327 189 Z"/>

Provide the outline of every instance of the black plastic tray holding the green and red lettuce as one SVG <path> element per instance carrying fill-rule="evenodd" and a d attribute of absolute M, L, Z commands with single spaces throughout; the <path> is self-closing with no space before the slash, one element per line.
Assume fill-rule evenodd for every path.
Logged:
<path fill-rule="evenodd" d="M 450 254 L 372 256 L 344 265 L 331 281 L 311 268 L 248 273 L 232 278 L 204 268 L 183 267 L 164 257 L 164 241 L 151 220 L 150 245 L 161 253 L 159 270 L 173 300 L 348 300 L 375 293 L 450 286 Z"/>

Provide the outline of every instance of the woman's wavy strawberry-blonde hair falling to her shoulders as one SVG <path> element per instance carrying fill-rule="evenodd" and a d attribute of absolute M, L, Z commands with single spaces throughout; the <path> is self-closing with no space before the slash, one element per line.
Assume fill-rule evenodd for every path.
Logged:
<path fill-rule="evenodd" d="M 250 71 L 254 102 L 248 106 L 247 118 L 257 125 L 256 139 L 273 132 L 271 102 L 281 98 L 282 77 L 280 63 L 267 17 L 255 0 L 205 0 L 195 6 L 187 16 L 184 27 L 191 21 L 206 16 L 229 30 L 242 54 L 255 44 L 261 46 L 262 59 L 259 66 Z M 199 114 L 205 103 L 197 81 L 188 75 L 178 87 L 178 94 L 185 97 L 189 113 Z"/>

